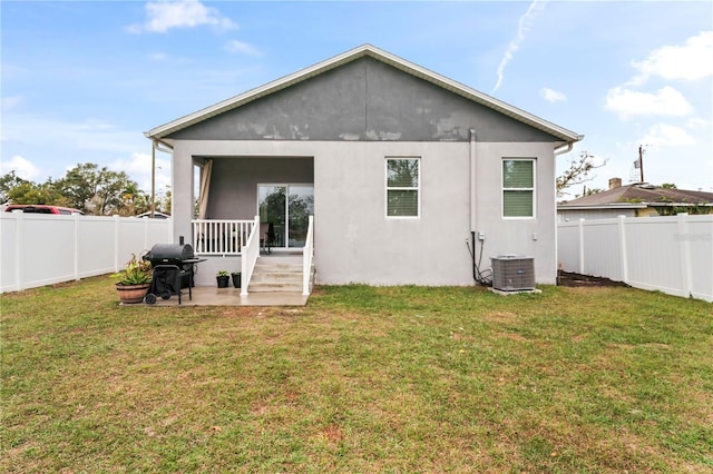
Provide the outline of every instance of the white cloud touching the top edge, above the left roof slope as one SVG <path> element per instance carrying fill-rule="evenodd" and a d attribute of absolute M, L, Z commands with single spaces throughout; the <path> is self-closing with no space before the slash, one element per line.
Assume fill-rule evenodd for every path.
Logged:
<path fill-rule="evenodd" d="M 237 28 L 233 20 L 221 14 L 217 9 L 206 7 L 198 0 L 149 1 L 145 8 L 148 17 L 146 22 L 131 24 L 127 28 L 128 31 L 165 33 L 174 28 L 195 28 L 204 24 L 221 31 Z"/>

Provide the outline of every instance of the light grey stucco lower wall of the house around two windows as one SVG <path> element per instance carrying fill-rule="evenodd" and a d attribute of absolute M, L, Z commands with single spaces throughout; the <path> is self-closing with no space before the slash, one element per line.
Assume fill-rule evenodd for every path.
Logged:
<path fill-rule="evenodd" d="M 553 144 L 478 142 L 475 151 L 476 228 L 486 233 L 484 267 L 501 254 L 531 256 L 537 282 L 554 284 Z M 319 283 L 475 284 L 466 247 L 471 214 L 469 142 L 178 140 L 174 186 L 192 189 L 193 157 L 216 157 L 217 162 L 219 157 L 241 156 L 313 157 Z M 421 158 L 419 218 L 385 217 L 387 157 Z M 536 218 L 502 219 L 502 158 L 536 158 Z M 176 192 L 174 198 L 176 241 L 180 235 L 191 236 L 193 204 L 186 195 Z M 212 276 L 199 275 L 198 284 L 204 284 L 203 278 L 213 280 Z"/>

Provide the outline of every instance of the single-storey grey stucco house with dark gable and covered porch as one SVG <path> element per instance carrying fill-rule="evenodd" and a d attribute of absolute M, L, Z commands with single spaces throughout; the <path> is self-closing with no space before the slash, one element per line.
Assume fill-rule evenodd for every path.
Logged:
<path fill-rule="evenodd" d="M 173 152 L 174 239 L 208 259 L 198 285 L 252 271 L 254 216 L 272 255 L 313 235 L 320 284 L 473 285 L 467 243 L 554 284 L 555 159 L 583 138 L 369 45 L 145 135 Z"/>

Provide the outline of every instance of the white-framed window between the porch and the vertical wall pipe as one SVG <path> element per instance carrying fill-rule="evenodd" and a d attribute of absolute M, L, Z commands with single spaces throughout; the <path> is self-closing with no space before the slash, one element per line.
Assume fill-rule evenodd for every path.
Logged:
<path fill-rule="evenodd" d="M 419 158 L 387 158 L 387 216 L 419 216 Z"/>

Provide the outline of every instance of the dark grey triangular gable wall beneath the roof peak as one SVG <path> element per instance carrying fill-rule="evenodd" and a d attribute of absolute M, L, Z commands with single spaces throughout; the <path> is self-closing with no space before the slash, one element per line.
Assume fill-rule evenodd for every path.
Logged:
<path fill-rule="evenodd" d="M 557 141 L 488 107 L 362 58 L 173 134 L 176 140 Z"/>

